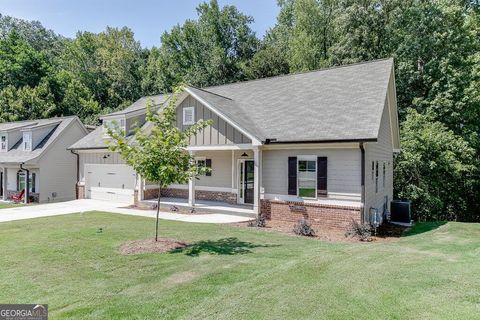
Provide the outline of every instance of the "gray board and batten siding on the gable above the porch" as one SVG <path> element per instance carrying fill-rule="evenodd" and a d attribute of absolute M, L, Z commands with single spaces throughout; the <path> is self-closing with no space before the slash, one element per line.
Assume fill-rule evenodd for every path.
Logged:
<path fill-rule="evenodd" d="M 248 137 L 243 135 L 190 95 L 187 96 L 177 107 L 178 128 L 184 130 L 188 127 L 183 125 L 183 108 L 185 107 L 195 107 L 195 121 L 212 121 L 211 125 L 205 127 L 196 136 L 191 138 L 190 145 L 202 146 L 251 143 L 251 140 Z"/>

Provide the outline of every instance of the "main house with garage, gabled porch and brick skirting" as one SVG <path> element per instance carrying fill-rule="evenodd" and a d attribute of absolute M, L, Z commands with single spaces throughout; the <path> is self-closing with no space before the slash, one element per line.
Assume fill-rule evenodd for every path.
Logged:
<path fill-rule="evenodd" d="M 158 188 L 137 177 L 109 152 L 106 129 L 128 134 L 144 125 L 145 97 L 102 117 L 99 127 L 71 149 L 80 155 L 79 194 L 133 203 Z M 188 151 L 210 174 L 162 190 L 170 198 L 250 206 L 271 219 L 346 228 L 352 220 L 381 219 L 393 194 L 393 155 L 399 128 L 392 59 L 208 88 L 189 86 L 178 99 L 177 121 L 212 124 Z M 378 215 L 374 215 L 378 213 Z"/>

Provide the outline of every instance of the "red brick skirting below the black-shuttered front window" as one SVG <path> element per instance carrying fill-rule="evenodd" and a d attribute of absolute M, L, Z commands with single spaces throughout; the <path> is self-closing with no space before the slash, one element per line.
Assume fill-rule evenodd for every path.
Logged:
<path fill-rule="evenodd" d="M 296 223 L 302 217 L 320 228 L 346 231 L 352 220 L 361 223 L 361 211 L 357 207 L 326 204 L 261 200 L 261 212 L 267 219 Z"/>

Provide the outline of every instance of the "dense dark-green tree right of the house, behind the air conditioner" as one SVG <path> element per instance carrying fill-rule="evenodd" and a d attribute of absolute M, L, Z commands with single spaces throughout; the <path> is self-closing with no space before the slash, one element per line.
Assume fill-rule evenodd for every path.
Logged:
<path fill-rule="evenodd" d="M 431 117 L 410 110 L 402 126 L 402 152 L 395 161 L 395 193 L 412 201 L 417 220 L 479 221 L 469 203 L 478 197 L 475 150 Z M 476 210 L 475 210 L 476 209 Z"/>

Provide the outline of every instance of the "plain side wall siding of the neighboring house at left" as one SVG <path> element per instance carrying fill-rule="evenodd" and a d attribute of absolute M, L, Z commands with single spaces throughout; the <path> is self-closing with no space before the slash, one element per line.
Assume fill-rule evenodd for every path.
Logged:
<path fill-rule="evenodd" d="M 84 136 L 80 123 L 74 121 L 40 158 L 40 202 L 75 199 L 77 159 L 67 148 Z"/>

